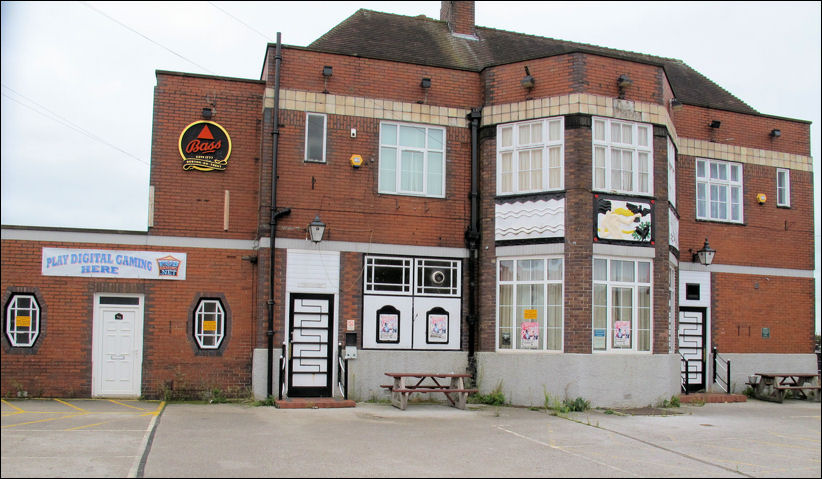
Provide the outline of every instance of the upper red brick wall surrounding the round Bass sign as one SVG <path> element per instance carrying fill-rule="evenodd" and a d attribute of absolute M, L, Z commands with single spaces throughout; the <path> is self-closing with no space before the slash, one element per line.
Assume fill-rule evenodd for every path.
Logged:
<path fill-rule="evenodd" d="M 157 73 L 151 180 L 154 227 L 151 234 L 250 238 L 257 231 L 260 183 L 261 82 Z M 189 124 L 202 120 L 214 102 L 211 121 L 231 137 L 224 171 L 184 171 L 178 143 Z M 223 229 L 229 190 L 229 229 Z"/>

